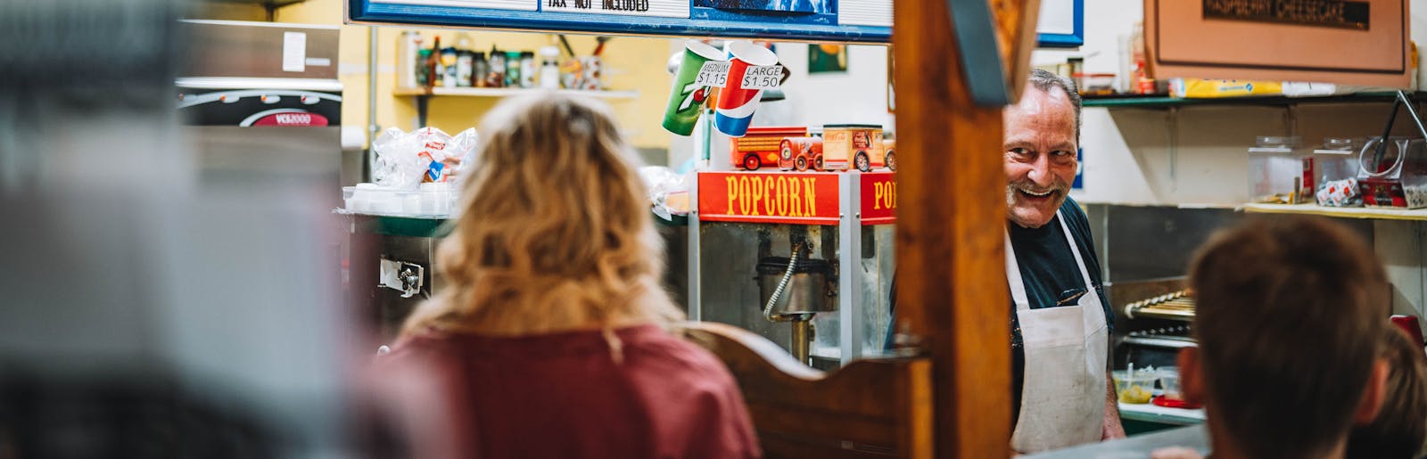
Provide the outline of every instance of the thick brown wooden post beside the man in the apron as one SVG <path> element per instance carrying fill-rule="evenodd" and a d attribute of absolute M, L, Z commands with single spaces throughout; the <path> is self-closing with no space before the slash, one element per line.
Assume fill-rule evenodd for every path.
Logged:
<path fill-rule="evenodd" d="M 1003 37 L 1033 27 L 1022 24 L 1026 3 L 1036 4 L 997 1 Z M 936 456 L 1007 458 L 1002 111 L 972 104 L 945 0 L 898 0 L 895 9 L 898 194 L 905 204 L 896 228 L 898 321 L 923 338 L 932 358 Z M 1020 43 L 1000 51 L 1010 71 L 1025 68 Z"/>

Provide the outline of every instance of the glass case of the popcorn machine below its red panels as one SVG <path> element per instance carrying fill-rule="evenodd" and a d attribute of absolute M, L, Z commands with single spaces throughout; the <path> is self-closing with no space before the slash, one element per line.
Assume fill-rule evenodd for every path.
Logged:
<path fill-rule="evenodd" d="M 674 254 L 671 277 L 692 284 L 685 291 L 698 299 L 691 301 L 689 295 L 682 298 L 691 306 L 691 318 L 698 314 L 702 321 L 736 325 L 785 346 L 793 355 L 802 352 L 796 346 L 809 342 L 805 362 L 811 361 L 812 366 L 822 369 L 838 368 L 852 359 L 882 355 L 890 328 L 895 228 L 849 227 L 853 231 L 843 232 L 833 225 L 705 222 L 695 232 L 699 244 L 689 258 L 676 257 L 685 254 L 686 241 L 669 239 L 669 252 Z M 795 268 L 788 287 L 793 298 L 803 299 L 779 299 L 771 309 L 771 314 L 783 314 L 775 319 L 791 324 L 769 321 L 762 312 L 772 289 L 765 285 L 776 287 L 788 269 L 793 241 L 812 244 L 799 258 L 799 264 L 808 262 L 808 271 Z M 696 271 L 701 274 L 689 275 L 689 271 L 681 269 L 686 265 L 702 267 Z M 819 277 L 823 279 L 819 281 Z M 825 285 L 823 295 L 816 294 L 818 284 Z M 791 321 L 795 318 L 809 319 L 806 324 Z"/>

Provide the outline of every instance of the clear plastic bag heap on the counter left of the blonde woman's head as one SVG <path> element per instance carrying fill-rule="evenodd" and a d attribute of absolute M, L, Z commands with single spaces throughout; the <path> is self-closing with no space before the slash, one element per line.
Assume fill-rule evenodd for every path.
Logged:
<path fill-rule="evenodd" d="M 477 134 L 468 128 L 455 137 L 434 127 L 411 133 L 388 128 L 371 143 L 375 153 L 372 181 L 395 190 L 417 190 L 422 182 L 451 182 L 475 153 Z"/>

